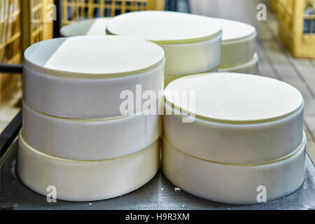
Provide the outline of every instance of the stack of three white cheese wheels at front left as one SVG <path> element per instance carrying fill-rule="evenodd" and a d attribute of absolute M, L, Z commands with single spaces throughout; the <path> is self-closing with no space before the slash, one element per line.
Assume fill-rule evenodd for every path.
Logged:
<path fill-rule="evenodd" d="M 142 104 L 138 85 L 158 95 L 164 64 L 162 48 L 134 38 L 77 36 L 31 45 L 23 63 L 22 182 L 43 195 L 55 186 L 57 199 L 90 201 L 130 193 L 152 179 L 161 118 L 141 106 L 125 112 L 121 94 L 140 97 L 128 99 L 132 104 Z"/>

